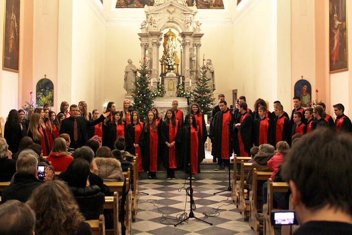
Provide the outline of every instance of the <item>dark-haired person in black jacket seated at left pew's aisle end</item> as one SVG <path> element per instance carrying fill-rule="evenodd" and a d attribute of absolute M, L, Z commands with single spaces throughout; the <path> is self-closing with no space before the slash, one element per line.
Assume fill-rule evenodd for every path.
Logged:
<path fill-rule="evenodd" d="M 66 170 L 66 182 L 86 220 L 99 219 L 103 213 L 105 195 L 99 186 L 89 184 L 90 164 L 84 159 L 75 159 Z"/>

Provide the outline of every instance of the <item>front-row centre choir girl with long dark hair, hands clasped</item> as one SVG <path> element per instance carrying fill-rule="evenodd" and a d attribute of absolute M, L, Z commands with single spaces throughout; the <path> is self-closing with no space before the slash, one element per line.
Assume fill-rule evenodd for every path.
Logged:
<path fill-rule="evenodd" d="M 181 122 L 175 117 L 173 109 L 166 111 L 165 119 L 161 124 L 160 145 L 163 146 L 163 164 L 167 169 L 167 180 L 175 180 L 175 169 L 179 164 L 179 146 L 181 141 Z"/>

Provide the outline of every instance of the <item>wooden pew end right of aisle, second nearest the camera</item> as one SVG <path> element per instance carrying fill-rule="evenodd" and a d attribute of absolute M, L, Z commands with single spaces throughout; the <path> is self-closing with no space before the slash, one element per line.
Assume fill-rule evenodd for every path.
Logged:
<path fill-rule="evenodd" d="M 260 181 L 267 181 L 272 172 L 257 171 L 256 168 L 253 169 L 253 182 L 252 190 L 249 193 L 249 204 L 250 204 L 250 213 L 249 213 L 249 226 L 254 229 L 254 234 L 259 235 L 260 228 L 263 228 L 263 225 L 260 224 L 259 220 L 256 218 L 256 213 L 258 213 L 258 206 L 262 207 L 263 197 L 258 197 L 258 183 Z M 259 202 L 259 203 L 258 203 Z"/>

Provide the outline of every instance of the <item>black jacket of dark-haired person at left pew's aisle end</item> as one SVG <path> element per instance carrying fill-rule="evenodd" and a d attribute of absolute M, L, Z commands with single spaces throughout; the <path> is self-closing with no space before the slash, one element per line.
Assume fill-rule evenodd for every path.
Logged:
<path fill-rule="evenodd" d="M 86 220 L 99 219 L 103 213 L 105 195 L 99 186 L 91 185 L 85 188 L 70 187 L 81 213 Z"/>

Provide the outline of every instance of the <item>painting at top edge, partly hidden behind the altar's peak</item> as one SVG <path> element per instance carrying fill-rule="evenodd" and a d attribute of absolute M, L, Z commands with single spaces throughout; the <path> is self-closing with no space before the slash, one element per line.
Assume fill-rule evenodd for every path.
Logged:
<path fill-rule="evenodd" d="M 186 0 L 186 3 L 192 6 L 193 1 L 196 1 L 198 9 L 224 9 L 222 0 Z M 155 0 L 117 0 L 115 8 L 144 8 L 144 5 L 153 6 L 154 2 Z"/>

